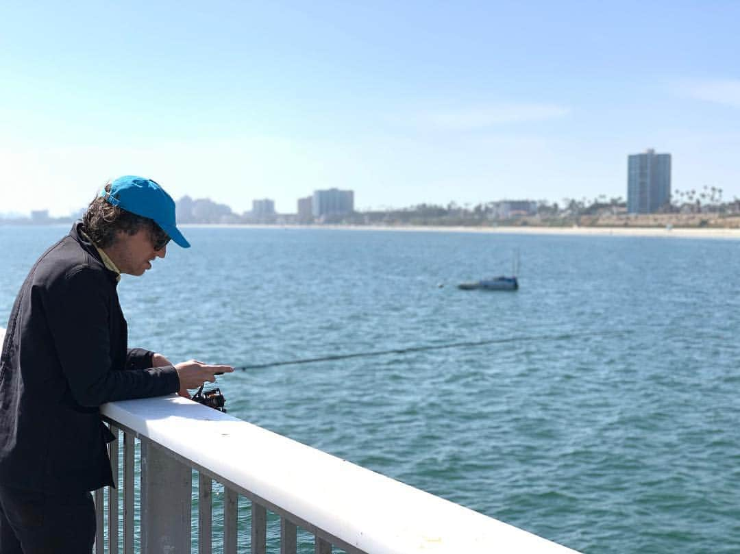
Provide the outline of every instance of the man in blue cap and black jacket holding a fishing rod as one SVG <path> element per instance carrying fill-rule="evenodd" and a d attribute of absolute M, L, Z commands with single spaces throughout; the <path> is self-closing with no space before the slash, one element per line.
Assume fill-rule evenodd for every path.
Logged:
<path fill-rule="evenodd" d="M 127 348 L 120 274 L 144 274 L 170 239 L 190 246 L 172 198 L 153 180 L 121 177 L 21 286 L 0 356 L 0 554 L 90 554 L 90 490 L 113 484 L 99 406 L 189 397 L 233 371 Z"/>

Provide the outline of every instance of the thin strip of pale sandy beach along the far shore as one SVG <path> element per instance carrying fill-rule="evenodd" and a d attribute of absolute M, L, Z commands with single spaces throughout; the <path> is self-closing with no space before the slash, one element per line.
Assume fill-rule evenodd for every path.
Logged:
<path fill-rule="evenodd" d="M 203 227 L 217 229 L 331 229 L 340 231 L 400 231 L 432 233 L 491 233 L 491 234 L 542 234 L 562 236 L 601 236 L 601 237 L 659 237 L 740 240 L 740 229 L 686 228 L 667 229 L 665 227 L 536 227 L 536 226 L 369 226 L 369 225 L 266 225 L 266 224 L 221 224 L 221 223 L 181 223 L 182 227 Z"/>

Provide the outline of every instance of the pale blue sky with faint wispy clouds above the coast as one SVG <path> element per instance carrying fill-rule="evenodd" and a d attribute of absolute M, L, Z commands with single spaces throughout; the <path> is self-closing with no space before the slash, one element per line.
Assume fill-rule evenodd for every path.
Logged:
<path fill-rule="evenodd" d="M 739 1 L 0 4 L 0 212 L 108 178 L 279 212 L 626 197 L 627 155 L 740 196 Z"/>

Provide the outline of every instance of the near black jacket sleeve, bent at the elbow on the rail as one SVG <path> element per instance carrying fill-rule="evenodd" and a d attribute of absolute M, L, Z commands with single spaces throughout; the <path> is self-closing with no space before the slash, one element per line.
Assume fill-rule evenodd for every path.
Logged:
<path fill-rule="evenodd" d="M 111 285 L 87 266 L 75 266 L 45 291 L 44 309 L 61 370 L 78 404 L 162 396 L 179 390 L 177 371 L 115 371 L 110 359 L 108 312 Z"/>

